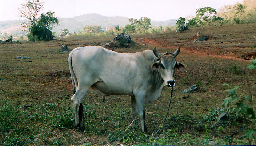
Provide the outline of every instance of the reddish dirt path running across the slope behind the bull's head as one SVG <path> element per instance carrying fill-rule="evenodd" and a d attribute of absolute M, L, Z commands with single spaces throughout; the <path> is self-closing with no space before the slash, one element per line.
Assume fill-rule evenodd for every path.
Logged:
<path fill-rule="evenodd" d="M 174 47 L 176 47 L 176 46 L 172 46 L 172 45 L 168 45 L 168 44 L 161 44 L 160 41 L 151 40 L 151 39 L 141 38 L 141 39 L 136 39 L 135 41 L 139 44 L 149 44 L 149 45 L 156 46 L 156 47 L 163 47 L 163 48 L 174 48 Z M 225 55 L 219 55 L 219 54 L 211 55 L 207 52 L 199 52 L 199 51 L 192 50 L 192 49 L 185 48 L 185 47 L 181 47 L 180 49 L 181 49 L 181 52 L 185 52 L 185 53 L 188 53 L 188 54 L 191 54 L 191 55 L 210 56 L 210 57 L 216 57 L 216 58 L 243 60 L 243 61 L 249 62 L 249 60 L 240 59 L 239 56 L 237 56 L 235 54 L 231 54 L 231 53 L 227 53 Z"/>

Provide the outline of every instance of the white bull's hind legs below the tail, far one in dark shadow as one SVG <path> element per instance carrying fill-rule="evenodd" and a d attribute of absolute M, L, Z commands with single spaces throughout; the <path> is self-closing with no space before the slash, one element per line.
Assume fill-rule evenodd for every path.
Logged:
<path fill-rule="evenodd" d="M 71 98 L 75 128 L 79 128 L 79 130 L 84 130 L 82 100 L 88 89 L 89 87 L 83 87 L 83 89 L 78 88 Z"/>

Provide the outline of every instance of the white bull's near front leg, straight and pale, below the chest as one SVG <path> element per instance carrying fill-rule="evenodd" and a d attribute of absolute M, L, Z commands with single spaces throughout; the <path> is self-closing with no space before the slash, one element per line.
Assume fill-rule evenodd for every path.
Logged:
<path fill-rule="evenodd" d="M 135 96 L 137 103 L 137 111 L 140 117 L 140 124 L 142 132 L 147 132 L 147 127 L 145 125 L 145 94 L 138 94 Z"/>

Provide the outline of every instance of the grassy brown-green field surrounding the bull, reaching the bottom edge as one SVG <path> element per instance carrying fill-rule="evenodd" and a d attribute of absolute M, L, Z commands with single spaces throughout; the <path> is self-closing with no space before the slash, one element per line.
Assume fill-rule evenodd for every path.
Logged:
<path fill-rule="evenodd" d="M 156 136 L 150 135 L 161 127 L 167 112 L 171 96 L 171 88 L 168 87 L 164 88 L 160 99 L 145 107 L 146 134 L 141 132 L 138 119 L 124 133 L 131 123 L 129 96 L 112 95 L 102 102 L 100 94 L 93 89 L 88 91 L 83 100 L 86 130 L 81 132 L 73 128 L 69 53 L 60 52 L 60 47 L 67 45 L 72 50 L 87 45 L 104 46 L 113 38 L 0 44 L 0 145 L 255 144 L 254 140 L 244 138 L 243 130 L 228 138 L 245 124 L 245 119 L 234 110 L 229 110 L 228 123 L 215 123 L 217 115 L 227 110 L 221 106 L 223 99 L 228 96 L 224 83 L 232 87 L 241 86 L 238 90 L 241 96 L 248 95 L 250 90 L 255 97 L 256 72 L 247 68 L 249 61 L 237 58 L 241 53 L 255 50 L 255 39 L 251 39 L 251 35 L 256 35 L 255 29 L 252 29 L 256 26 L 222 26 L 222 30 L 219 30 L 221 26 L 215 27 L 195 28 L 182 33 L 134 35 L 134 41 L 143 43 L 141 40 L 145 40 L 147 45 L 136 44 L 131 48 L 115 50 L 132 53 L 152 50 L 156 46 L 159 52 L 166 52 L 181 47 L 177 61 L 183 63 L 186 69 L 175 72 L 176 86 L 169 115 L 164 130 Z M 250 32 L 244 33 L 244 30 Z M 193 36 L 199 31 L 209 36 L 228 36 L 207 42 L 193 42 Z M 225 43 L 223 48 L 218 47 L 223 46 L 220 42 Z M 242 43 L 243 47 L 237 47 L 237 43 Z M 235 50 L 233 59 L 218 57 L 227 50 Z M 204 52 L 206 55 L 195 52 Z M 16 56 L 31 59 L 15 59 Z M 200 90 L 182 93 L 195 84 Z M 254 98 L 252 102 L 255 103 Z M 247 127 L 255 128 L 255 125 Z"/>

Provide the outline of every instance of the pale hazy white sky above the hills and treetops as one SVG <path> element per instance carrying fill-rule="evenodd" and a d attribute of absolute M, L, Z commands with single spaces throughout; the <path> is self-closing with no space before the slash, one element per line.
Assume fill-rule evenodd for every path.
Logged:
<path fill-rule="evenodd" d="M 17 8 L 28 0 L 0 0 L 0 21 L 21 19 Z M 243 0 L 44 0 L 42 12 L 51 10 L 58 18 L 72 18 L 82 14 L 98 13 L 104 16 L 128 18 L 149 17 L 152 21 L 195 16 L 197 8 L 218 10 L 224 5 Z M 42 13 L 41 12 L 41 13 Z M 40 13 L 40 14 L 41 14 Z"/>

